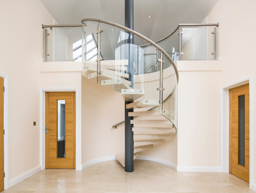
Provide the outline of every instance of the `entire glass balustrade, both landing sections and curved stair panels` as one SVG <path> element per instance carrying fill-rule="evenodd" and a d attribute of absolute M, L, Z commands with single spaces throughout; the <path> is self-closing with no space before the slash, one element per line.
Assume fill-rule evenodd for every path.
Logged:
<path fill-rule="evenodd" d="M 85 78 L 121 93 L 126 101 L 136 101 L 135 108 L 157 111 L 176 128 L 175 63 L 214 60 L 216 46 L 213 26 L 181 26 L 180 29 L 181 37 L 178 29 L 157 43 L 165 55 L 149 40 L 104 23 L 53 27 L 48 29 L 47 61 L 82 61 Z"/>

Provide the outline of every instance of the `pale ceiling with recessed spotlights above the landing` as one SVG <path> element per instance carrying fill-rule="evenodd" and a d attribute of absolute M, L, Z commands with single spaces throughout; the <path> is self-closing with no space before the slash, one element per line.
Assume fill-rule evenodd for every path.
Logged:
<path fill-rule="evenodd" d="M 178 24 L 202 23 L 217 1 L 134 0 L 134 30 L 157 41 L 169 35 Z M 41 0 L 41 2 L 58 24 L 80 24 L 83 18 L 97 18 L 124 25 L 124 0 Z"/>

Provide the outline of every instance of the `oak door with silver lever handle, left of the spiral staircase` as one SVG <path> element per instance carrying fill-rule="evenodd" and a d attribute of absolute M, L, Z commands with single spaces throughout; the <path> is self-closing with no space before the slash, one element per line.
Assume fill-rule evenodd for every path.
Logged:
<path fill-rule="evenodd" d="M 75 169 L 75 92 L 46 92 L 45 130 L 46 169 Z"/>

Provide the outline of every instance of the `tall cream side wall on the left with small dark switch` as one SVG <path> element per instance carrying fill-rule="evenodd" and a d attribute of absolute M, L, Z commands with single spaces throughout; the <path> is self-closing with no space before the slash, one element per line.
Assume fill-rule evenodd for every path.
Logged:
<path fill-rule="evenodd" d="M 40 165 L 41 24 L 53 17 L 40 0 L 1 1 L 0 72 L 9 75 L 9 180 Z M 24 115 L 24 116 L 21 116 Z M 33 126 L 36 121 L 36 126 Z"/>

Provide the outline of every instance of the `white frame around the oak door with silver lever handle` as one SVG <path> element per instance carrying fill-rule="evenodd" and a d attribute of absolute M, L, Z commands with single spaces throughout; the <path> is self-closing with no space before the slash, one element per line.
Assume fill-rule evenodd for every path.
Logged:
<path fill-rule="evenodd" d="M 79 126 L 79 88 L 78 87 L 43 87 L 40 88 L 40 165 L 46 169 L 45 163 L 45 93 L 46 92 L 76 92 L 76 170 L 79 167 L 79 152 L 80 151 L 80 134 L 81 129 Z"/>

